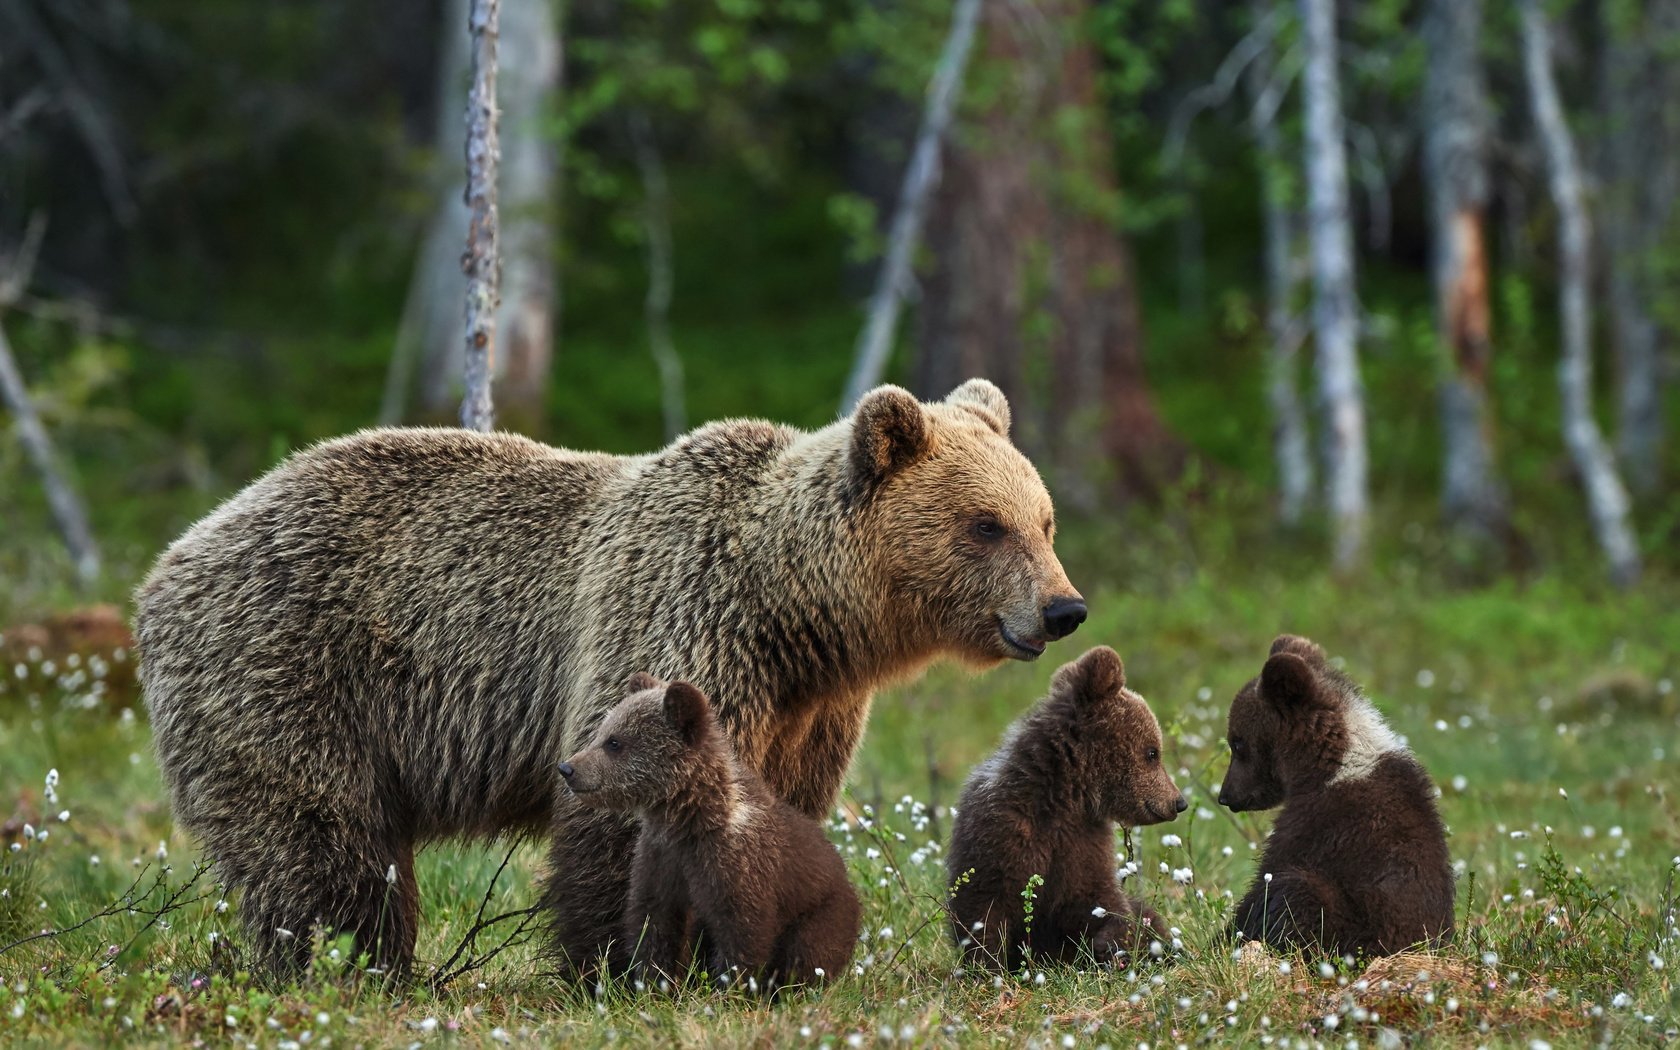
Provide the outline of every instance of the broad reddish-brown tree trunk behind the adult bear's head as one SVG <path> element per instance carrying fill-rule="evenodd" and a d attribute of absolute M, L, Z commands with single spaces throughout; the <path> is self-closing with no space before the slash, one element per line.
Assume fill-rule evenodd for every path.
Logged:
<path fill-rule="evenodd" d="M 996 381 L 1016 440 L 1084 509 L 1156 489 L 1184 455 L 1144 380 L 1087 3 L 984 5 L 981 60 L 1006 89 L 946 146 L 917 318 L 922 391 Z"/>

